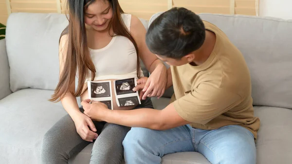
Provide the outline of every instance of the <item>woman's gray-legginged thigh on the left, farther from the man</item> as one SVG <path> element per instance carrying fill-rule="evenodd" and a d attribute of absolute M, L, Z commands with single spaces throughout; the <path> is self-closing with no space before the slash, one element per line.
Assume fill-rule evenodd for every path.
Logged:
<path fill-rule="evenodd" d="M 42 164 L 68 164 L 69 159 L 90 142 L 84 141 L 76 132 L 69 114 L 61 118 L 45 134 L 42 141 Z"/>

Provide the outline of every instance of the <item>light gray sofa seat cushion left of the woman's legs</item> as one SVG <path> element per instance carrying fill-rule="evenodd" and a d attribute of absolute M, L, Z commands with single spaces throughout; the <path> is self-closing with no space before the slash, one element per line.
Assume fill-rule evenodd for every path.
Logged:
<path fill-rule="evenodd" d="M 66 114 L 48 101 L 53 91 L 25 89 L 0 100 L 0 163 L 39 164 L 41 140 Z"/>

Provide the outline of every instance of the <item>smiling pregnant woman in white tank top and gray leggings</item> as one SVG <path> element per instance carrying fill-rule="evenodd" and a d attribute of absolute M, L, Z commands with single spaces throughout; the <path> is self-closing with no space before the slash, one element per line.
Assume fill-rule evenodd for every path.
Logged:
<path fill-rule="evenodd" d="M 122 141 L 129 128 L 95 122 L 83 114 L 76 97 L 88 99 L 87 81 L 141 77 L 139 58 L 151 73 L 148 96 L 160 97 L 166 85 L 166 68 L 146 47 L 141 21 L 125 14 L 118 0 L 68 0 L 69 25 L 59 44 L 60 77 L 51 101 L 61 101 L 68 115 L 44 136 L 42 164 L 68 164 L 69 159 L 94 141 L 90 164 L 120 164 Z M 75 91 L 75 77 L 78 85 Z M 141 105 L 113 109 L 153 108 L 150 99 Z"/>

